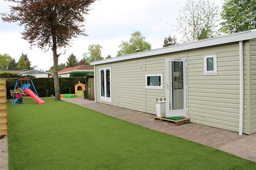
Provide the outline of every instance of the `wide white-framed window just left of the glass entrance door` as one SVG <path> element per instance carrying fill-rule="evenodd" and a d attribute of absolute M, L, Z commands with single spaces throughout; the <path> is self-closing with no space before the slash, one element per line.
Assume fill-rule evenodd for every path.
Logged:
<path fill-rule="evenodd" d="M 163 74 L 147 74 L 146 88 L 163 89 Z"/>

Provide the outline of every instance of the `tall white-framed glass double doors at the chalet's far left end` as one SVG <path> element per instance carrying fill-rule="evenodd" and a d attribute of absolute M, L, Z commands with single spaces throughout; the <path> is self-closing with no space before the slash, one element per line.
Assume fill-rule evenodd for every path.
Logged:
<path fill-rule="evenodd" d="M 105 102 L 111 102 L 111 69 L 100 68 L 100 100 Z"/>

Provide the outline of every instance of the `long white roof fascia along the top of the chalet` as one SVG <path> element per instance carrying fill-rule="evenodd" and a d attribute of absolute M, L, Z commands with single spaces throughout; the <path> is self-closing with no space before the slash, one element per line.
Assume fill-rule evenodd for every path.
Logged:
<path fill-rule="evenodd" d="M 219 37 L 208 38 L 208 39 L 204 39 L 204 40 L 198 40 L 198 41 L 194 41 L 194 42 L 188 42 L 188 43 L 179 44 L 179 45 L 173 45 L 173 46 L 164 47 L 164 48 L 158 48 L 158 49 L 149 50 L 149 51 L 143 51 L 143 52 L 134 53 L 134 54 L 128 54 L 128 55 L 124 55 L 121 57 L 102 59 L 99 61 L 91 62 L 90 64 L 98 65 L 98 64 L 108 63 L 108 62 L 122 61 L 122 60 L 126 60 L 126 59 L 135 59 L 135 58 L 140 58 L 140 57 L 154 56 L 154 55 L 159 55 L 159 54 L 172 53 L 172 52 L 176 52 L 176 51 L 183 51 L 183 50 L 189 50 L 189 49 L 194 49 L 194 48 L 201 48 L 201 47 L 207 47 L 207 46 L 212 46 L 212 45 L 225 44 L 225 43 L 230 43 L 230 42 L 250 40 L 253 38 L 256 38 L 256 29 L 238 32 L 238 33 L 234 33 L 234 34 L 227 34 L 227 35 L 223 35 L 223 36 L 219 36 Z"/>

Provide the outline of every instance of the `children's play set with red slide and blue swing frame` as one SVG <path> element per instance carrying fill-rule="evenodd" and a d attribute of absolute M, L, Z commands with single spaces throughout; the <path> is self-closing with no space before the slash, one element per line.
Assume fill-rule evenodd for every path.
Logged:
<path fill-rule="evenodd" d="M 26 83 L 22 84 L 22 81 L 25 81 Z M 35 89 L 35 86 L 32 82 L 31 79 L 18 79 L 16 81 L 16 84 L 15 84 L 15 88 L 14 89 L 17 89 L 19 88 L 19 82 L 20 82 L 20 88 L 21 90 L 25 91 L 25 94 L 22 95 L 20 98 L 16 98 L 14 100 L 14 102 L 12 102 L 12 105 L 15 105 L 17 103 L 23 103 L 22 99 L 23 98 L 33 98 L 36 102 L 38 102 L 39 105 L 43 105 L 45 104 L 44 100 L 40 99 L 40 97 L 38 96 L 38 93 Z M 32 88 L 34 90 L 34 92 L 30 89 L 30 83 L 31 82 L 31 85 L 32 85 Z M 12 100 L 14 99 L 14 96 L 12 96 Z"/>

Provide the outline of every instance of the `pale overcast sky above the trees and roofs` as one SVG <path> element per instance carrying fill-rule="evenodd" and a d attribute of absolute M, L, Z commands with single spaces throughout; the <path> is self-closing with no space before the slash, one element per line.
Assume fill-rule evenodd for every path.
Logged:
<path fill-rule="evenodd" d="M 221 0 L 215 0 L 221 6 Z M 72 47 L 59 57 L 59 63 L 66 62 L 69 54 L 73 53 L 80 60 L 87 48 L 92 44 L 103 47 L 102 57 L 116 56 L 118 45 L 122 40 L 128 40 L 134 31 L 141 31 L 151 48 L 161 48 L 163 39 L 168 35 L 177 34 L 175 27 L 167 23 L 174 23 L 178 10 L 185 6 L 186 0 L 99 0 L 91 6 L 93 9 L 86 16 L 86 34 L 72 41 Z M 0 13 L 9 12 L 9 3 L 0 0 Z M 0 19 L 0 54 L 7 53 L 16 62 L 21 53 L 28 55 L 32 66 L 37 69 L 48 70 L 52 65 L 52 51 L 44 52 L 39 48 L 29 48 L 28 42 L 21 38 L 23 31 L 17 23 L 4 23 Z"/>

